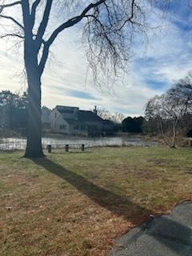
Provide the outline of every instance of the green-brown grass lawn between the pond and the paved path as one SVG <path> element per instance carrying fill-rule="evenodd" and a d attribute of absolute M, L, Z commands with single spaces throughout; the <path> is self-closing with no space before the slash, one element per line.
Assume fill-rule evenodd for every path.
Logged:
<path fill-rule="evenodd" d="M 0 154 L 1 256 L 102 256 L 115 238 L 192 199 L 192 150 Z"/>

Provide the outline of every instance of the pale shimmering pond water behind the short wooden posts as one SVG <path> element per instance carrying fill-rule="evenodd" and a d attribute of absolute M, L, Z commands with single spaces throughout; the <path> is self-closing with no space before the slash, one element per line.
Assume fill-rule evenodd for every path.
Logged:
<path fill-rule="evenodd" d="M 158 142 L 146 141 L 139 137 L 102 137 L 102 138 L 42 138 L 42 146 L 51 144 L 53 148 L 64 148 L 69 144 L 72 148 L 78 148 L 82 144 L 85 147 L 94 146 L 158 146 Z M 0 150 L 25 150 L 26 138 L 0 138 Z"/>

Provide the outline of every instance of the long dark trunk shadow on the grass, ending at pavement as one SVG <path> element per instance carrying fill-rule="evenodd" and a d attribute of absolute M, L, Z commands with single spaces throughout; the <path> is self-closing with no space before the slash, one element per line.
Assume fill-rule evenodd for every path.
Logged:
<path fill-rule="evenodd" d="M 38 166 L 42 166 L 50 173 L 70 183 L 70 185 L 74 186 L 82 194 L 86 194 L 88 198 L 96 202 L 99 206 L 110 210 L 116 216 L 122 216 L 128 219 L 133 224 L 138 224 L 138 217 L 139 219 L 146 219 L 150 214 L 153 214 L 150 209 L 138 206 L 126 198 L 126 196 L 115 194 L 106 188 L 97 186 L 82 175 L 67 170 L 65 167 L 48 158 L 33 158 L 31 160 Z"/>

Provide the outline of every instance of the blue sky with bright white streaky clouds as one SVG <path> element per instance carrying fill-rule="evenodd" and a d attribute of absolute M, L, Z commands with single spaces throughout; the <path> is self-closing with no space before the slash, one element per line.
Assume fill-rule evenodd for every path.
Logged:
<path fill-rule="evenodd" d="M 185 3 L 172 1 L 166 19 L 161 6 L 153 7 L 149 17 L 153 29 L 147 43 L 143 45 L 141 38 L 136 40 L 127 74 L 110 88 L 94 86 L 87 75 L 85 51 L 77 39 L 78 27 L 65 30 L 51 48 L 42 77 L 42 106 L 78 106 L 82 110 L 98 106 L 126 116 L 144 114 L 150 98 L 164 93 L 192 70 L 192 9 Z M 1 40 L 0 67 L 0 91 L 26 90 L 22 47 L 15 50 L 12 43 Z"/>

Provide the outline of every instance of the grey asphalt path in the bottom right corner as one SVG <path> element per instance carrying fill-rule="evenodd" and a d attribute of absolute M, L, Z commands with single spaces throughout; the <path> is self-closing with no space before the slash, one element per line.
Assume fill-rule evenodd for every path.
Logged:
<path fill-rule="evenodd" d="M 192 202 L 124 235 L 110 256 L 192 256 Z"/>

